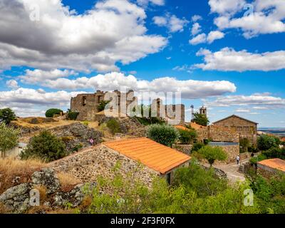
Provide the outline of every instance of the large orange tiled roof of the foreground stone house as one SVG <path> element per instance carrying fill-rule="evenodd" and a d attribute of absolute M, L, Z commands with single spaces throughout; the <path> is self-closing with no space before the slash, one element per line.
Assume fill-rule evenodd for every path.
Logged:
<path fill-rule="evenodd" d="M 143 165 L 161 174 L 165 174 L 191 159 L 190 156 L 182 152 L 148 138 L 103 142 L 103 145 L 120 152 L 130 159 L 140 161 Z"/>

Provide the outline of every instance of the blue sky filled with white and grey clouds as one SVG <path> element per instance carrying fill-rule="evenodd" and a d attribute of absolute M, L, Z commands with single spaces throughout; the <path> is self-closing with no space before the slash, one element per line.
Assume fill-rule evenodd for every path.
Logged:
<path fill-rule="evenodd" d="M 0 108 L 43 115 L 77 93 L 146 85 L 207 105 L 211 122 L 285 127 L 281 1 L 0 2 Z"/>

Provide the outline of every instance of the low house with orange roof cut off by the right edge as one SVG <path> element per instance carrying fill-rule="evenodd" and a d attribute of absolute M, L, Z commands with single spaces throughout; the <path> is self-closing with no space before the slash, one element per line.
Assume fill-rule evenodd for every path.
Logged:
<path fill-rule="evenodd" d="M 273 177 L 278 173 L 285 174 L 285 160 L 279 158 L 257 162 L 257 173 L 263 177 Z"/>

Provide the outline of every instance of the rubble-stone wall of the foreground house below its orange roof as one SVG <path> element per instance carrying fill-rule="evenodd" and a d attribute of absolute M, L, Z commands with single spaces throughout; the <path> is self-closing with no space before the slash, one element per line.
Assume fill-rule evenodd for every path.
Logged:
<path fill-rule="evenodd" d="M 117 162 L 120 162 L 120 173 L 124 176 L 128 172 L 137 170 L 140 165 L 138 162 L 100 145 L 51 162 L 50 166 L 58 172 L 68 172 L 82 182 L 96 182 L 99 176 L 113 178 L 113 168 Z M 147 186 L 151 185 L 152 177 L 158 175 L 160 175 L 158 172 L 145 166 L 137 171 L 137 177 Z"/>

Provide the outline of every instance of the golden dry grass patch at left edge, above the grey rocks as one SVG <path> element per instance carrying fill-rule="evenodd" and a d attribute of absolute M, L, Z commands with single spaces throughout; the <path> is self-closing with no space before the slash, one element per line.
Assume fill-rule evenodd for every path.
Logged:
<path fill-rule="evenodd" d="M 41 170 L 47 165 L 41 160 L 16 160 L 14 158 L 0 158 L 0 194 L 5 190 L 31 181 L 33 172 Z M 13 183 L 15 177 L 20 177 L 19 182 Z"/>

